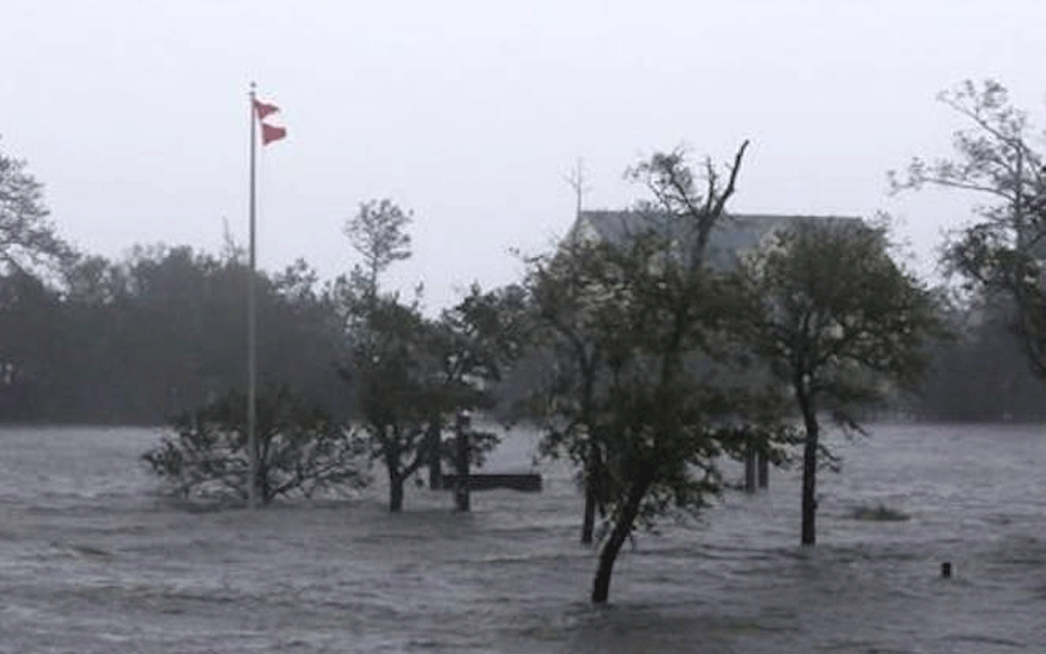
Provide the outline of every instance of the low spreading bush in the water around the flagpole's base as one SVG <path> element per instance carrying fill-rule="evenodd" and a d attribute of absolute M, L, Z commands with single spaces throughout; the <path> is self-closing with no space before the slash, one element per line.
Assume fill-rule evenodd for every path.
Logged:
<path fill-rule="evenodd" d="M 171 421 L 174 434 L 143 455 L 182 497 L 247 497 L 246 398 L 228 393 Z M 279 496 L 356 489 L 365 444 L 317 404 L 285 387 L 257 398 L 257 487 L 263 504 Z"/>

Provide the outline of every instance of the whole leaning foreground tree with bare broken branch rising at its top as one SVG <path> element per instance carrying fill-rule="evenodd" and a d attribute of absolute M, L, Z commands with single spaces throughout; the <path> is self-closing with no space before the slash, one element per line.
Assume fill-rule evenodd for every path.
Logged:
<path fill-rule="evenodd" d="M 717 341 L 728 304 L 706 250 L 733 195 L 746 145 L 726 179 L 709 161 L 698 178 L 679 150 L 643 161 L 630 177 L 646 184 L 655 202 L 641 207 L 622 242 L 592 243 L 584 251 L 584 320 L 559 334 L 569 341 L 568 332 L 576 332 L 589 355 L 598 350 L 604 372 L 593 385 L 588 425 L 581 424 L 584 380 L 554 389 L 549 401 L 558 402 L 563 427 L 550 436 L 583 467 L 591 464 L 593 444 L 601 457 L 609 520 L 593 582 L 596 603 L 609 597 L 615 561 L 637 525 L 673 508 L 703 506 L 723 485 L 720 456 L 776 426 L 756 424 L 764 417 L 754 411 L 758 403 L 742 401 L 752 396 L 713 384 L 707 374 L 720 359 Z M 567 343 L 560 351 L 565 358 L 559 363 L 577 370 L 581 350 Z M 571 422 L 576 428 L 569 428 Z"/>

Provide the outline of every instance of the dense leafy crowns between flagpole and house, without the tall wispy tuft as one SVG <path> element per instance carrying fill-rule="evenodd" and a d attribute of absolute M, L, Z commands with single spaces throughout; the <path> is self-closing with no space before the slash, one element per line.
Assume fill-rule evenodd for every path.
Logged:
<path fill-rule="evenodd" d="M 473 288 L 439 320 L 426 319 L 394 296 L 356 304 L 365 313 L 354 322 L 351 359 L 339 372 L 354 389 L 372 456 L 384 461 L 394 484 L 429 460 L 429 448 L 452 459 L 449 444 L 429 438 L 453 416 L 494 407 L 490 384 L 521 349 L 512 334 L 518 312 L 506 308 L 519 302 L 511 289 L 483 293 Z M 472 460 L 482 462 L 496 436 L 475 428 L 470 435 Z"/>

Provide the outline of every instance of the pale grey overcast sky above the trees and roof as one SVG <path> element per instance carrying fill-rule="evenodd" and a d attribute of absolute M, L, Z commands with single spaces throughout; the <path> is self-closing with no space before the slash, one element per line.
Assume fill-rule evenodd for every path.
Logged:
<path fill-rule="evenodd" d="M 1046 123 L 1039 0 L 7 0 L 0 148 L 47 184 L 61 232 L 217 250 L 246 234 L 248 83 L 285 141 L 260 161 L 259 257 L 348 269 L 341 226 L 389 196 L 415 213 L 435 308 L 508 281 L 510 247 L 586 205 L 643 196 L 623 169 L 679 144 L 728 160 L 752 140 L 734 211 L 887 209 L 917 266 L 970 198 L 890 198 L 885 173 L 949 152 L 935 95 L 995 77 Z"/>

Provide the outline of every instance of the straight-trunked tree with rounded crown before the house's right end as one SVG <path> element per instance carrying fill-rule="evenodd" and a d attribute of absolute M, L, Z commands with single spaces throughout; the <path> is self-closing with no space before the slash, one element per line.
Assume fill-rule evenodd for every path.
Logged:
<path fill-rule="evenodd" d="M 816 541 L 822 412 L 860 429 L 862 410 L 910 389 L 942 334 L 933 295 L 852 219 L 800 219 L 734 275 L 734 334 L 791 388 L 803 421 L 802 544 Z"/>

